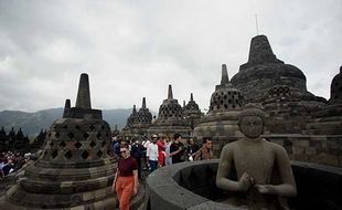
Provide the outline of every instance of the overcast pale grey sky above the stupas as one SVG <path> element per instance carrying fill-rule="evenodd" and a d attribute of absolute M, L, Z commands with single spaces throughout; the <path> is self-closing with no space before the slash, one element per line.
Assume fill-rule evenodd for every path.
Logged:
<path fill-rule="evenodd" d="M 75 104 L 81 73 L 94 108 L 157 112 L 172 84 L 182 105 L 194 94 L 209 108 L 221 82 L 248 59 L 250 39 L 267 35 L 274 53 L 329 98 L 342 65 L 341 0 L 0 1 L 0 111 Z"/>

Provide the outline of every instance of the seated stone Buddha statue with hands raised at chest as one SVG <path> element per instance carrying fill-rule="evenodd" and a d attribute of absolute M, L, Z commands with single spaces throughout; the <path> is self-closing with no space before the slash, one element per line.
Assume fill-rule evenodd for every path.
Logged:
<path fill-rule="evenodd" d="M 286 197 L 295 197 L 296 182 L 286 150 L 260 135 L 261 109 L 246 106 L 238 126 L 244 137 L 224 146 L 216 186 L 232 195 L 226 201 L 248 209 L 288 209 Z M 236 179 L 232 178 L 236 175 Z"/>

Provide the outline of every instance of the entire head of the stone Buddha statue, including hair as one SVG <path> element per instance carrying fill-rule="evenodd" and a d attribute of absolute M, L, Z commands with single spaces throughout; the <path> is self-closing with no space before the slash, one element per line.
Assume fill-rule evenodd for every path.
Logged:
<path fill-rule="evenodd" d="M 239 130 L 248 138 L 257 138 L 264 133 L 265 113 L 253 105 L 246 105 L 238 117 Z"/>

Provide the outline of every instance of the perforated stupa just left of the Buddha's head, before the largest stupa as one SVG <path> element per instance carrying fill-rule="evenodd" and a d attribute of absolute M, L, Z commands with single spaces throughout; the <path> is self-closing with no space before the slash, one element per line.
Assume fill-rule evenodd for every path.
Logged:
<path fill-rule="evenodd" d="M 237 123 L 243 106 L 242 93 L 233 87 L 227 67 L 223 64 L 221 84 L 216 85 L 215 92 L 212 94 L 207 114 L 194 128 L 194 136 L 200 139 L 212 137 L 214 150 L 220 154 L 224 144 L 236 140 L 238 136 L 242 136 Z"/>

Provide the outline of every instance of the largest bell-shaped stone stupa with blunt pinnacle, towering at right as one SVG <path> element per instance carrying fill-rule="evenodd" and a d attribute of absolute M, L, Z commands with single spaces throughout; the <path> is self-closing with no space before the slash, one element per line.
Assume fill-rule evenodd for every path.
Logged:
<path fill-rule="evenodd" d="M 292 95 L 320 104 L 321 98 L 307 91 L 307 77 L 296 66 L 286 64 L 274 54 L 266 35 L 252 39 L 248 62 L 239 66 L 232 84 L 242 91 L 245 103 L 260 103 L 268 98 L 269 88 L 288 86 Z"/>

